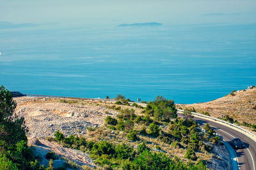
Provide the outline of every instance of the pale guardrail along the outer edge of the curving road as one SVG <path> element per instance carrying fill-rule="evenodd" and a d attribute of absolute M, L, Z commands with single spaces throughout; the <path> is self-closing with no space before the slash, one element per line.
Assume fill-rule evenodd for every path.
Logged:
<path fill-rule="evenodd" d="M 179 109 L 178 109 L 178 111 L 184 112 L 184 110 L 179 110 Z M 243 134 L 245 134 L 246 136 L 248 136 L 249 138 L 253 139 L 253 141 L 256 142 L 256 135 L 255 134 L 253 134 L 252 132 L 246 131 L 245 129 L 243 129 L 242 127 L 239 127 L 238 125 L 234 125 L 234 124 L 231 124 L 229 122 L 226 122 L 225 120 L 221 120 L 219 118 L 214 118 L 214 117 L 209 117 L 207 115 L 203 115 L 203 114 L 200 114 L 200 113 L 196 113 L 196 112 L 191 112 L 191 113 L 192 113 L 192 115 L 196 115 L 198 117 L 209 118 L 211 120 L 221 122 L 221 123 L 223 123 L 225 125 L 229 125 L 229 126 L 235 127 L 237 129 L 239 129 L 241 132 L 243 132 Z"/>

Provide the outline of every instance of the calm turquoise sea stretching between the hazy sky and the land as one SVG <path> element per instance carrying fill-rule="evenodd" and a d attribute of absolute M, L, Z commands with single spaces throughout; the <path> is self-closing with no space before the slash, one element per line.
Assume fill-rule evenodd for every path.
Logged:
<path fill-rule="evenodd" d="M 256 24 L 0 30 L 0 83 L 29 94 L 198 103 L 256 84 Z"/>

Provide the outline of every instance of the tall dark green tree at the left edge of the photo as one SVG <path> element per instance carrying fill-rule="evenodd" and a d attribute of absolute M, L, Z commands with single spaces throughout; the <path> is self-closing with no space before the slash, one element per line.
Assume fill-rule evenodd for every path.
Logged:
<path fill-rule="evenodd" d="M 16 103 L 9 90 L 0 89 L 0 169 L 45 169 L 28 147 L 24 118 L 14 115 Z"/>

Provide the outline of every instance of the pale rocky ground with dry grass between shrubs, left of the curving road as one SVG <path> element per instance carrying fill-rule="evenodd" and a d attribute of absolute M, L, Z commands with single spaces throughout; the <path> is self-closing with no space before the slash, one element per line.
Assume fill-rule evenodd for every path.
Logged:
<path fill-rule="evenodd" d="M 89 101 L 78 99 L 60 99 L 50 97 L 18 97 L 15 98 L 17 102 L 17 108 L 15 113 L 19 117 L 24 117 L 26 125 L 28 126 L 28 137 L 30 145 L 35 147 L 35 152 L 42 158 L 41 164 L 49 163 L 49 160 L 45 159 L 46 153 L 54 152 L 63 158 L 68 159 L 70 164 L 76 166 L 95 167 L 93 159 L 88 153 L 74 150 L 72 148 L 64 148 L 63 142 L 56 143 L 56 141 L 47 141 L 45 138 L 54 137 L 54 133 L 60 130 L 66 137 L 73 134 L 74 136 L 84 136 L 87 141 L 109 141 L 118 145 L 119 143 L 126 143 L 133 150 L 137 150 L 137 146 L 141 142 L 147 143 L 150 150 L 154 152 L 164 152 L 172 159 L 176 156 L 186 164 L 195 164 L 195 160 L 184 159 L 188 147 L 185 143 L 179 144 L 172 139 L 170 143 L 164 143 L 163 140 L 167 136 L 162 135 L 160 138 L 152 137 L 149 133 L 148 125 L 136 123 L 145 121 L 144 114 L 141 112 L 143 109 L 140 107 L 125 106 L 119 104 L 113 104 L 111 102 L 101 101 Z M 105 119 L 108 116 L 112 118 L 116 117 L 126 108 L 134 110 L 134 114 L 140 115 L 138 120 L 127 120 L 125 124 L 132 125 L 134 131 L 138 132 L 138 140 L 131 141 L 127 138 L 129 131 L 126 131 L 126 125 L 124 130 L 118 129 L 118 125 L 109 126 L 105 124 Z M 141 119 L 142 118 L 142 119 Z M 141 120 L 140 120 L 141 119 Z M 140 121 L 139 121 L 140 120 Z M 150 121 L 152 121 L 149 118 Z M 119 120 L 118 120 L 119 121 Z M 169 125 L 164 122 L 157 122 L 159 127 L 166 135 L 168 135 Z M 133 127 L 134 124 L 134 127 Z M 122 125 L 122 124 L 120 124 Z M 128 124 L 127 124 L 128 125 Z M 128 128 L 129 126 L 127 126 Z M 142 130 L 141 130 L 142 129 Z M 146 134 L 141 134 L 145 131 Z M 207 152 L 207 148 L 201 147 L 196 152 L 198 160 L 204 160 L 207 163 L 207 167 L 210 169 L 219 169 L 220 167 L 227 167 L 230 169 L 230 157 L 227 149 L 223 145 L 212 145 L 211 142 L 205 141 L 201 143 L 202 146 L 212 148 L 211 152 Z M 70 146 L 71 147 L 71 146 Z M 156 150 L 158 147 L 158 150 Z M 161 150 L 159 150 L 161 148 Z M 88 152 L 88 150 L 87 150 Z M 59 161 L 59 160 L 56 160 Z M 98 162 L 99 163 L 99 162 Z M 220 169 L 222 169 L 220 168 Z"/>

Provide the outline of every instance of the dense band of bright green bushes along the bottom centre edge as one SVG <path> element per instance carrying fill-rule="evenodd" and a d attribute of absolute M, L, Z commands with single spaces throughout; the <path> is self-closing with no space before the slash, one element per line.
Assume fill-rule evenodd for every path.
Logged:
<path fill-rule="evenodd" d="M 60 132 L 56 134 L 58 134 L 56 136 L 62 136 L 60 135 Z M 63 142 L 63 140 L 68 140 L 68 138 L 58 138 L 62 139 L 58 142 Z M 82 139 L 83 142 L 81 143 L 84 144 L 83 146 L 90 150 L 90 156 L 92 159 L 95 159 L 95 164 L 107 169 L 206 169 L 206 166 L 203 163 L 188 167 L 177 157 L 172 160 L 163 153 L 152 153 L 145 143 L 141 143 L 138 145 L 138 150 L 134 150 L 124 143 L 118 145 L 109 143 L 108 141 L 99 141 L 97 143 L 88 141 L 86 143 L 81 137 L 77 139 Z M 77 143 L 76 140 L 70 141 L 72 142 L 69 146 L 76 145 Z"/>

